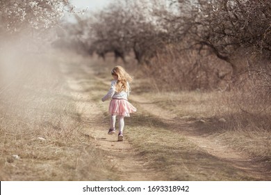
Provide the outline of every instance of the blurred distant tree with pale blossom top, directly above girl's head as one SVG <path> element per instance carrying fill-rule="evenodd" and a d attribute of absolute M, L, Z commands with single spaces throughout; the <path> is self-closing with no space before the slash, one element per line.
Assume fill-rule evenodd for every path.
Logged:
<path fill-rule="evenodd" d="M 163 44 L 161 31 L 152 21 L 147 1 L 114 1 L 92 20 L 91 51 L 104 58 L 114 52 L 125 62 L 126 54 L 134 53 L 138 63 L 147 63 Z"/>

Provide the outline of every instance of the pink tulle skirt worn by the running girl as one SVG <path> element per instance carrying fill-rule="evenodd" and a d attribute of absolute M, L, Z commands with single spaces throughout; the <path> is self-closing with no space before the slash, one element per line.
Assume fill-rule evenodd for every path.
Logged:
<path fill-rule="evenodd" d="M 120 115 L 120 116 L 130 116 L 130 113 L 136 112 L 136 108 L 123 99 L 112 99 L 109 104 L 109 114 Z"/>

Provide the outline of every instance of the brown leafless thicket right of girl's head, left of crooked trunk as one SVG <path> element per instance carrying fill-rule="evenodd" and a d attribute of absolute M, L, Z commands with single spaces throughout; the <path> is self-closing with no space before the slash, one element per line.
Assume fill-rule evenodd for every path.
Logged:
<path fill-rule="evenodd" d="M 221 91 L 228 88 L 231 68 L 208 52 L 199 54 L 169 45 L 144 66 L 144 72 L 154 80 L 150 85 L 157 91 L 169 91 L 169 86 L 170 91 Z"/>

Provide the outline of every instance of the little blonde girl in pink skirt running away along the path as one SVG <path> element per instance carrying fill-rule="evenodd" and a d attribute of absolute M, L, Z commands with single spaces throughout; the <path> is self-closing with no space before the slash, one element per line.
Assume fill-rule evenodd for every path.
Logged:
<path fill-rule="evenodd" d="M 108 134 L 115 133 L 116 116 L 118 116 L 120 132 L 117 141 L 123 141 L 124 116 L 129 117 L 130 113 L 136 112 L 136 108 L 128 102 L 130 93 L 129 82 L 131 82 L 133 78 L 120 65 L 115 66 L 115 68 L 111 70 L 111 75 L 114 80 L 111 81 L 110 90 L 104 98 L 101 98 L 101 101 L 104 102 L 112 98 L 108 109 L 109 114 L 111 114 L 111 125 Z"/>

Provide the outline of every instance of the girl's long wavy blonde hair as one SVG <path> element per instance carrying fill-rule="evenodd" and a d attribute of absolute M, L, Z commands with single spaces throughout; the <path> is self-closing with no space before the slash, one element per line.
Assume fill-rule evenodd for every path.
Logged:
<path fill-rule="evenodd" d="M 122 68 L 122 66 L 115 66 L 111 70 L 111 75 L 117 75 L 117 84 L 115 88 L 115 91 L 117 91 L 117 93 L 120 93 L 121 91 L 128 92 L 130 90 L 127 82 L 131 82 L 133 80 L 133 77 L 129 75 L 129 73 L 126 72 L 124 68 Z"/>

